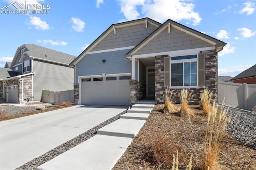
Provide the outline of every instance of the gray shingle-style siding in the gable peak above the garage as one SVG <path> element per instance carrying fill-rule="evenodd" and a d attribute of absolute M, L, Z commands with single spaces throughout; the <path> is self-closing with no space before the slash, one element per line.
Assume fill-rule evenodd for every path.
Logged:
<path fill-rule="evenodd" d="M 148 28 L 146 28 L 145 24 L 116 28 L 116 34 L 114 34 L 113 30 L 92 51 L 137 45 L 154 30 L 156 30 L 156 27 L 150 24 L 148 24 Z"/>

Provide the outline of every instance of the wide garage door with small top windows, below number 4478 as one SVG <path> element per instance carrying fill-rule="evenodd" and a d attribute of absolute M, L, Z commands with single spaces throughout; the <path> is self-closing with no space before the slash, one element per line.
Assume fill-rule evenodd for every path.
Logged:
<path fill-rule="evenodd" d="M 130 105 L 129 80 L 116 77 L 82 79 L 82 105 Z"/>

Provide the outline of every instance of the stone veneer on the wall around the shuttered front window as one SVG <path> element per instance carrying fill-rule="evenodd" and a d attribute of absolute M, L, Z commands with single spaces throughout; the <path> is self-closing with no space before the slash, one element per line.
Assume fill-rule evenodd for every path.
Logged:
<path fill-rule="evenodd" d="M 210 89 L 214 93 L 212 100 L 217 97 L 217 80 L 218 80 L 218 67 L 217 67 L 217 52 L 216 50 L 200 51 L 200 53 L 206 54 L 205 59 L 205 86 L 199 88 L 188 88 L 189 91 L 193 91 L 196 96 L 194 100 L 190 101 L 194 104 L 200 103 L 200 93 L 206 88 Z M 157 103 L 164 103 L 164 57 L 168 55 L 158 55 L 155 57 L 155 75 L 156 75 L 156 85 L 155 85 L 155 100 Z M 174 91 L 180 92 L 181 89 L 173 89 Z M 173 97 L 175 103 L 180 103 L 180 96 Z"/>

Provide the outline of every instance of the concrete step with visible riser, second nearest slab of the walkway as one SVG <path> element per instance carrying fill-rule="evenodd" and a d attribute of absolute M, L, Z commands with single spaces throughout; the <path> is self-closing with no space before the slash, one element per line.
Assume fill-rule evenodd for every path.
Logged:
<path fill-rule="evenodd" d="M 134 138 L 145 120 L 118 119 L 97 130 L 97 134 Z"/>

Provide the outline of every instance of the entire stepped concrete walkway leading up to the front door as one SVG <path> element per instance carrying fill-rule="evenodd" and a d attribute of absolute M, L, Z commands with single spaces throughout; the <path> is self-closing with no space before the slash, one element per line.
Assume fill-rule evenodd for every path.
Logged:
<path fill-rule="evenodd" d="M 153 107 L 133 105 L 121 119 L 100 128 L 92 138 L 38 166 L 38 170 L 112 169 L 146 122 Z"/>

